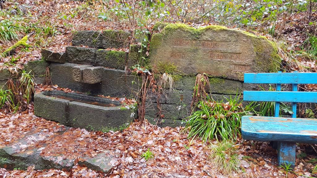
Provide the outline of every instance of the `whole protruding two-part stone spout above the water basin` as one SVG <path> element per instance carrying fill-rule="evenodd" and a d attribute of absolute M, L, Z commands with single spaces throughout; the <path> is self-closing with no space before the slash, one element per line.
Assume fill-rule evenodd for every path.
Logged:
<path fill-rule="evenodd" d="M 73 79 L 76 82 L 95 84 L 100 83 L 101 70 L 103 67 L 93 67 L 92 65 L 78 65 L 73 67 Z"/>

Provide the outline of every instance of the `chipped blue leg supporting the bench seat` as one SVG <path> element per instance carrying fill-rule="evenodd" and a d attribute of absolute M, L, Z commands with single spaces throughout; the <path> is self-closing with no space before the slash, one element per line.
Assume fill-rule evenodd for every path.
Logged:
<path fill-rule="evenodd" d="M 278 164 L 284 165 L 284 163 L 292 164 L 292 168 L 295 167 L 295 153 L 296 143 L 291 142 L 278 142 L 277 143 L 277 156 Z"/>

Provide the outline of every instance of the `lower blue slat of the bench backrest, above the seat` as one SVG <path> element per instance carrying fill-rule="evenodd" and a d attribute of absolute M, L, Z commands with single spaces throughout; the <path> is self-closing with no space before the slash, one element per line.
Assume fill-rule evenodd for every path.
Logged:
<path fill-rule="evenodd" d="M 243 100 L 317 103 L 317 92 L 243 91 Z"/>

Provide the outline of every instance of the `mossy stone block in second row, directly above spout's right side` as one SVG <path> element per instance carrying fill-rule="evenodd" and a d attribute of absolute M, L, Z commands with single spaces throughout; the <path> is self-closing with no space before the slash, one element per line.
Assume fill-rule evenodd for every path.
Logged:
<path fill-rule="evenodd" d="M 126 67 L 126 52 L 98 49 L 96 63 L 98 66 L 124 70 Z"/>

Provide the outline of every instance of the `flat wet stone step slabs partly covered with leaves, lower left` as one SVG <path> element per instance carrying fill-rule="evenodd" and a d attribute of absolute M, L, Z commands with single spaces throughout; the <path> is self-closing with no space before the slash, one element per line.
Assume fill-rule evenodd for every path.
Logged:
<path fill-rule="evenodd" d="M 62 154 L 52 153 L 58 156 L 43 156 L 43 151 L 50 146 L 50 141 L 54 137 L 65 137 L 65 134 L 70 128 L 65 127 L 64 130 L 53 133 L 45 130 L 31 131 L 25 137 L 17 140 L 14 143 L 0 147 L 0 167 L 7 169 L 27 169 L 29 166 L 35 166 L 36 170 L 43 169 L 71 169 L 74 166 L 75 159 L 67 158 Z M 50 133 L 50 134 L 48 134 Z M 86 165 L 87 168 L 96 171 L 109 172 L 112 168 L 110 162 L 112 158 L 106 156 L 105 152 L 100 152 L 94 157 L 82 156 L 80 165 Z"/>

